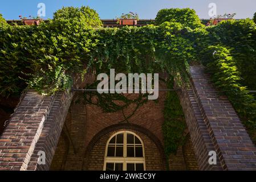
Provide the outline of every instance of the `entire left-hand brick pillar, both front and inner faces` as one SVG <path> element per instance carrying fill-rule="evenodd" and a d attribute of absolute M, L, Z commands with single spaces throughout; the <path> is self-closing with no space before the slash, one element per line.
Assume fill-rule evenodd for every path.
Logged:
<path fill-rule="evenodd" d="M 94 80 L 94 71 L 86 74 Z M 86 84 L 74 75 L 74 88 Z M 73 92 L 42 96 L 29 90 L 0 137 L 0 170 L 48 170 L 62 131 Z M 46 154 L 46 164 L 39 165 L 38 151 Z"/>

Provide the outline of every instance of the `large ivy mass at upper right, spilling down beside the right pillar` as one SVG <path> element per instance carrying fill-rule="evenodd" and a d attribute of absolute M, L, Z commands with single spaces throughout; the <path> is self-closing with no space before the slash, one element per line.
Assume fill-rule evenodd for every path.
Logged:
<path fill-rule="evenodd" d="M 213 83 L 229 98 L 255 142 L 256 101 L 248 90 L 256 90 L 256 25 L 250 19 L 227 20 L 207 27 L 202 35 L 198 60 L 212 73 Z"/>

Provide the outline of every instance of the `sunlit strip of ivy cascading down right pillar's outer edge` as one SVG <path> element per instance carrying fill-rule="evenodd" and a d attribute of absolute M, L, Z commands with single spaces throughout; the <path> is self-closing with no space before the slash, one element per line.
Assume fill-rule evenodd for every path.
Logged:
<path fill-rule="evenodd" d="M 249 134 L 256 139 L 256 101 L 242 86 L 241 72 L 237 68 L 237 61 L 230 55 L 230 50 L 221 46 L 210 46 L 205 49 L 202 61 L 212 73 L 214 84 L 223 90 L 242 118 Z"/>

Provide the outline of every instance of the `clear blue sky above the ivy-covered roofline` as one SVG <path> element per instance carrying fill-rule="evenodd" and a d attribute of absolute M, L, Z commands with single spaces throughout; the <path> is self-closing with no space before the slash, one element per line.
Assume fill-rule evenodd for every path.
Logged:
<path fill-rule="evenodd" d="M 256 12 L 255 0 L 0 0 L 0 13 L 5 19 L 19 19 L 19 15 L 36 16 L 38 3 L 46 5 L 46 17 L 62 6 L 90 6 L 101 19 L 112 19 L 129 11 L 139 14 L 140 19 L 154 19 L 157 11 L 171 7 L 190 7 L 200 18 L 209 18 L 209 3 L 216 3 L 217 14 L 237 13 L 235 18 L 252 18 Z"/>

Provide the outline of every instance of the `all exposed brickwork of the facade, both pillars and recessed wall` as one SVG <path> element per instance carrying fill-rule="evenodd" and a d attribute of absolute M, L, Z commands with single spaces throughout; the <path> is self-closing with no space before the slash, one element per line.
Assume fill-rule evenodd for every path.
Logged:
<path fill-rule="evenodd" d="M 87 73 L 86 81 L 92 80 L 94 73 Z M 79 76 L 74 76 L 74 82 L 74 88 L 87 84 Z M 122 122 L 123 113 L 103 113 L 96 106 L 76 103 L 78 92 L 48 97 L 30 90 L 0 137 L 0 169 L 103 170 L 109 138 L 127 131 L 143 141 L 146 170 L 255 170 L 255 145 L 204 68 L 190 67 L 190 81 L 176 89 L 188 128 L 185 144 L 168 162 L 162 135 L 165 92 L 160 92 L 159 102 L 148 101 Z M 132 106 L 124 115 L 131 110 Z M 38 151 L 46 152 L 46 164 L 38 163 Z M 210 151 L 217 152 L 215 165 L 208 162 Z"/>

